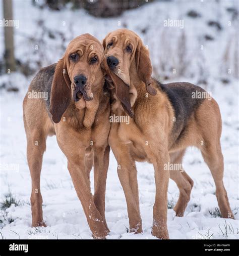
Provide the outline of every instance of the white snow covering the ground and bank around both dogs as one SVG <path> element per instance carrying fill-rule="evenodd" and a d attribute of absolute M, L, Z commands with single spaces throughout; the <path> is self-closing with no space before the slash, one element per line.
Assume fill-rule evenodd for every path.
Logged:
<path fill-rule="evenodd" d="M 14 15 L 15 19 L 20 21 L 20 27 L 16 29 L 16 55 L 23 61 L 30 60 L 31 58 L 33 60 L 35 60 L 34 58 L 41 58 L 39 54 L 32 57 L 34 44 L 31 45 L 24 37 L 25 34 L 37 36 L 35 20 L 39 18 L 45 20 L 48 28 L 52 30 L 58 29 L 66 34 L 65 46 L 70 39 L 85 32 L 89 32 L 102 39 L 107 32 L 118 28 L 117 22 L 121 21 L 120 27 L 123 24 L 127 24 L 128 28 L 135 30 L 143 37 L 145 44 L 149 45 L 149 48 L 152 49 L 152 62 L 154 66 L 157 66 L 160 65 L 158 62 L 162 60 L 163 56 L 160 51 L 161 45 L 156 45 L 155 37 L 160 41 L 159 34 L 161 32 L 158 32 L 158 36 L 153 38 L 150 37 L 150 34 L 156 33 L 158 28 L 162 28 L 163 20 L 167 18 L 181 19 L 181 15 L 183 15 L 186 36 L 192 42 L 186 48 L 187 53 L 194 56 L 195 48 L 201 44 L 204 45 L 205 51 L 203 52 L 202 66 L 203 74 L 207 73 L 205 76 L 207 78 L 207 85 L 205 87 L 212 93 L 212 96 L 220 106 L 223 120 L 221 144 L 225 165 L 224 184 L 236 220 L 214 218 L 209 213 L 209 211 L 212 212 L 215 210 L 215 207 L 218 207 L 214 182 L 210 170 L 203 162 L 200 152 L 196 149 L 188 149 L 183 163 L 186 172 L 194 180 L 194 188 L 185 217 L 175 217 L 171 206 L 177 201 L 178 189 L 174 182 L 170 181 L 168 189 L 169 236 L 171 239 L 204 239 L 209 237 L 211 239 L 238 239 L 238 79 L 233 78 L 231 74 L 226 76 L 229 82 L 223 83 L 221 81 L 221 78 L 224 77 L 223 70 L 220 69 L 226 44 L 234 31 L 233 26 L 229 28 L 229 32 L 225 29 L 229 14 L 225 14 L 224 9 L 225 6 L 229 7 L 231 2 L 222 1 L 224 3 L 222 5 L 223 10 L 220 9 L 218 13 L 211 12 L 215 8 L 214 1 L 204 2 L 207 3 L 204 3 L 204 6 L 202 6 L 203 4 L 199 1 L 196 7 L 195 1 L 183 1 L 181 5 L 173 3 L 146 4 L 141 9 L 125 12 L 121 17 L 96 19 L 88 16 L 82 10 L 76 12 L 64 10 L 52 13 L 49 10 L 40 11 L 33 8 L 30 4 L 31 1 L 15 0 L 14 5 L 17 8 Z M 202 17 L 200 20 L 192 20 L 192 18 L 190 20 L 185 16 L 192 8 L 201 13 Z M 209 19 L 216 19 L 218 15 L 221 15 L 220 21 L 224 29 L 216 33 L 213 28 L 205 25 L 205 22 Z M 69 26 L 62 26 L 64 20 L 71 24 L 71 29 L 69 29 Z M 190 24 L 188 28 L 187 24 Z M 142 29 L 145 28 L 148 29 L 146 34 L 142 33 Z M 170 29 L 174 29 L 176 34 L 180 28 L 174 27 Z M 208 33 L 213 34 L 215 39 L 203 41 L 200 36 Z M 172 34 L 171 36 L 172 38 L 170 37 L 169 41 L 173 45 L 174 35 Z M 3 28 L 0 28 L 0 39 L 3 39 Z M 44 45 L 44 51 L 47 58 L 41 59 L 42 63 L 45 63 L 44 65 L 57 61 L 63 54 L 61 44 L 58 43 L 60 40 L 60 38 L 46 39 L 47 45 Z M 201 43 L 201 41 L 203 42 Z M 232 51 L 231 48 L 233 47 L 229 48 L 230 51 Z M 176 51 L 176 48 L 174 50 Z M 1 45 L 0 55 L 2 54 L 3 48 Z M 177 60 L 170 57 L 168 57 L 167 62 L 175 64 Z M 189 59 L 192 59 L 192 57 L 189 57 Z M 187 75 L 173 77 L 171 74 L 170 80 L 197 82 L 200 72 L 194 66 L 195 63 L 196 60 L 192 61 L 192 65 L 189 65 L 187 70 L 189 73 L 198 72 L 198 75 L 192 77 Z M 230 61 L 228 63 L 230 66 Z M 165 73 L 167 75 L 169 73 L 168 70 L 169 68 L 167 69 L 166 67 Z M 195 72 L 193 72 L 194 70 Z M 160 73 L 162 70 L 156 70 L 155 73 L 157 72 Z M 160 73 L 160 75 L 163 74 Z M 47 139 L 47 149 L 43 157 L 41 173 L 43 216 L 47 227 L 31 228 L 31 179 L 26 160 L 26 137 L 22 119 L 22 101 L 30 80 L 31 78 L 25 78 L 20 73 L 2 75 L 0 77 L 1 85 L 6 83 L 8 86 L 8 83 L 11 83 L 12 86 L 20 88 L 18 93 L 2 90 L 0 95 L 0 202 L 4 201 L 5 195 L 9 191 L 18 201 L 17 206 L 12 204 L 6 211 L 2 211 L 2 214 L 0 210 L 0 239 L 91 239 L 91 231 L 67 170 L 66 157 L 58 148 L 55 137 Z M 106 221 L 111 233 L 107 239 L 156 239 L 151 235 L 155 198 L 153 166 L 148 163 L 137 164 L 140 209 L 144 231 L 142 234 L 137 235 L 127 232 L 129 229 L 127 207 L 122 186 L 117 178 L 116 166 L 116 160 L 111 152 L 105 208 Z M 93 172 L 91 172 L 91 181 L 93 192 Z M 225 225 L 227 227 L 227 234 L 225 232 Z"/>

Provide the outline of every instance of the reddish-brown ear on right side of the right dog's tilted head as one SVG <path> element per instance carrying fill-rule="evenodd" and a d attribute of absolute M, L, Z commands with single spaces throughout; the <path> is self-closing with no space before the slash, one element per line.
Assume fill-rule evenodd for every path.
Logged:
<path fill-rule="evenodd" d="M 135 59 L 139 78 L 145 82 L 147 92 L 151 95 L 156 95 L 156 90 L 151 86 L 151 75 L 153 69 L 149 57 L 149 50 L 143 45 L 141 39 L 139 39 L 138 42 Z"/>

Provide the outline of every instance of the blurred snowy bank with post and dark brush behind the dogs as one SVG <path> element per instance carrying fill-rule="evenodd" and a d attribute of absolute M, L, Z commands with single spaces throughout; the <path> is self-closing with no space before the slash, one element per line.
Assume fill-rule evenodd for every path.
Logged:
<path fill-rule="evenodd" d="M 181 77 L 210 88 L 238 79 L 238 1 L 1 0 L 0 89 L 18 91 L 43 66 L 61 58 L 71 39 L 99 40 L 129 28 L 148 45 L 153 75 Z M 6 20 L 14 26 L 7 27 Z M 5 23 L 4 23 L 5 21 Z M 16 84 L 17 72 L 18 84 Z"/>

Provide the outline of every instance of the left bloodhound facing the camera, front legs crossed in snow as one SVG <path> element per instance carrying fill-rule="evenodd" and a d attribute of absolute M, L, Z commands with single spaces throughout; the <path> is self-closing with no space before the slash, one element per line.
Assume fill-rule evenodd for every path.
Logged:
<path fill-rule="evenodd" d="M 104 214 L 110 151 L 110 104 L 104 79 L 107 71 L 102 44 L 90 34 L 83 34 L 70 42 L 57 64 L 42 68 L 29 86 L 23 116 L 32 179 L 33 227 L 45 226 L 40 172 L 46 138 L 56 135 L 93 237 L 105 238 L 109 233 Z M 33 92 L 49 97 L 30 97 Z M 94 196 L 89 180 L 93 164 Z"/>

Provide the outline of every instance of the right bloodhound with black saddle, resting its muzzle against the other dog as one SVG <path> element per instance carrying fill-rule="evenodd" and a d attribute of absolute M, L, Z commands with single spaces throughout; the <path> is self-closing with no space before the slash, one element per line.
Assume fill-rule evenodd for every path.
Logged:
<path fill-rule="evenodd" d="M 174 210 L 176 216 L 183 216 L 193 181 L 178 166 L 189 146 L 201 150 L 211 170 L 222 217 L 233 218 L 222 180 L 222 121 L 216 101 L 194 84 L 162 84 L 153 79 L 149 50 L 133 31 L 118 29 L 109 33 L 103 47 L 108 66 L 121 78 L 111 86 L 111 115 L 131 117 L 130 122 L 115 118 L 109 133 L 109 145 L 118 162 L 117 173 L 126 196 L 130 231 L 142 232 L 135 161 L 148 161 L 154 166 L 156 184 L 152 234 L 169 238 L 169 173 L 180 190 Z M 172 170 L 170 164 L 177 168 Z"/>

